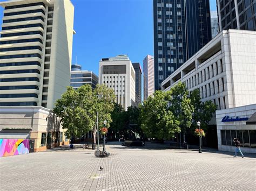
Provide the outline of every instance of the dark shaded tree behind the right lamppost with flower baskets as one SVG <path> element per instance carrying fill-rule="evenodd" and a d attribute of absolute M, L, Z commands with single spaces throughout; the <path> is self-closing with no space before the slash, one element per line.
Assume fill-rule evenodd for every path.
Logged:
<path fill-rule="evenodd" d="M 207 131 L 207 125 L 210 122 L 213 114 L 215 113 L 217 107 L 211 101 L 201 102 L 200 93 L 198 89 L 190 91 L 191 104 L 194 107 L 194 112 L 192 113 L 192 125 L 196 128 L 197 122 L 201 122 L 201 128 Z"/>

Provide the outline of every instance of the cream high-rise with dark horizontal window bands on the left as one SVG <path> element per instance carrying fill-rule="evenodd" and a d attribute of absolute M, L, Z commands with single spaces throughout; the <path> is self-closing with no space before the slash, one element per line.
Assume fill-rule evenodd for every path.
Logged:
<path fill-rule="evenodd" d="M 70 84 L 74 6 L 57 0 L 0 5 L 0 106 L 52 109 Z"/>

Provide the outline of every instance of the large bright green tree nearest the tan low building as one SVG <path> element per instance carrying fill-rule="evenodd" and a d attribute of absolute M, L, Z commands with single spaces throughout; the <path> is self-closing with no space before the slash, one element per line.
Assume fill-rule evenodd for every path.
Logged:
<path fill-rule="evenodd" d="M 67 91 L 55 103 L 53 112 L 61 118 L 68 138 L 81 137 L 94 124 L 92 89 L 89 85 L 77 90 L 67 87 Z"/>

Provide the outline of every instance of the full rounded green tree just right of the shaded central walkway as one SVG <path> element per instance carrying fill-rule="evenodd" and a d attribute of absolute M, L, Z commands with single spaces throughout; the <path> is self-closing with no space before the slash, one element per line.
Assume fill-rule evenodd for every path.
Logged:
<path fill-rule="evenodd" d="M 142 130 L 147 137 L 163 140 L 180 132 L 180 122 L 174 118 L 172 111 L 169 110 L 170 100 L 170 93 L 156 91 L 153 97 L 149 96 L 143 105 L 139 106 Z"/>

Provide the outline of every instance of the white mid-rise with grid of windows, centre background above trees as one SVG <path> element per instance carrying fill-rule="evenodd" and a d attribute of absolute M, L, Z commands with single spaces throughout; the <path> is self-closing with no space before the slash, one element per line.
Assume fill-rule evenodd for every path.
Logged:
<path fill-rule="evenodd" d="M 135 70 L 127 55 L 100 60 L 99 84 L 112 88 L 116 103 L 121 104 L 125 110 L 135 105 Z"/>

